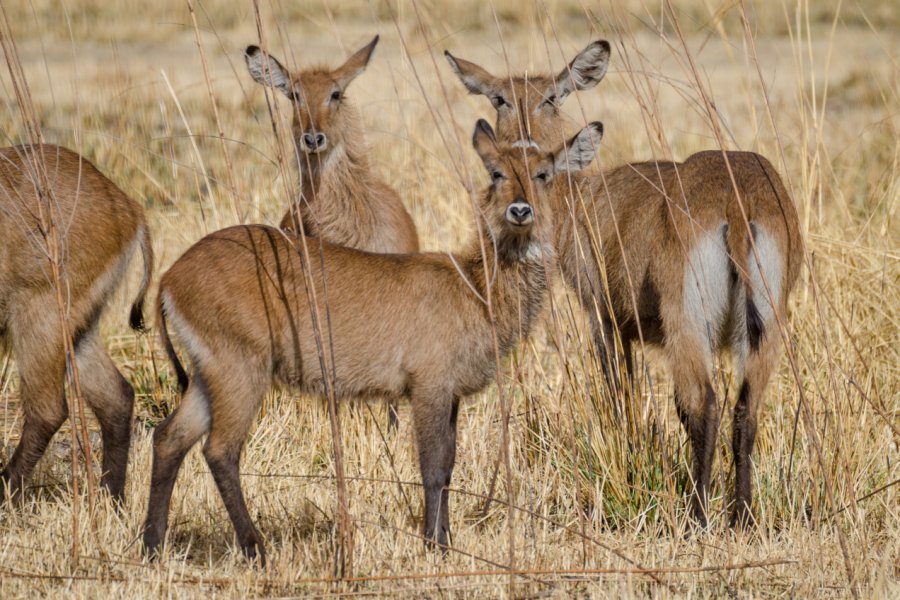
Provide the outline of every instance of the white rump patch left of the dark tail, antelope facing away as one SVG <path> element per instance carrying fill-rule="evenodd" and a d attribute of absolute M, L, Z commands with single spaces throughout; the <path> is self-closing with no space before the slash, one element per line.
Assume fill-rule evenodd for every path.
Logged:
<path fill-rule="evenodd" d="M 731 259 L 725 247 L 725 227 L 723 221 L 698 239 L 684 270 L 684 314 L 710 355 L 718 345 L 730 305 Z"/>

